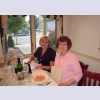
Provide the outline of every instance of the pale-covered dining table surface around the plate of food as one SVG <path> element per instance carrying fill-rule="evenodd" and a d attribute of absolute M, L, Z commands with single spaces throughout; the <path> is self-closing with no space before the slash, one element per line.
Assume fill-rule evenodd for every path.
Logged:
<path fill-rule="evenodd" d="M 0 68 L 0 73 L 2 75 L 2 73 L 4 72 L 4 68 Z M 32 81 L 32 82 L 24 82 L 23 85 L 19 85 L 18 83 L 16 83 L 15 78 L 16 75 L 14 75 L 13 79 L 9 82 L 9 84 L 7 84 L 7 86 L 58 86 L 58 84 L 42 69 L 33 69 L 32 70 L 32 80 L 34 78 L 34 76 L 36 75 L 44 75 L 47 77 L 46 82 L 50 82 L 50 84 L 45 85 L 39 85 L 36 82 Z"/>

